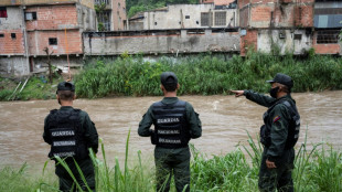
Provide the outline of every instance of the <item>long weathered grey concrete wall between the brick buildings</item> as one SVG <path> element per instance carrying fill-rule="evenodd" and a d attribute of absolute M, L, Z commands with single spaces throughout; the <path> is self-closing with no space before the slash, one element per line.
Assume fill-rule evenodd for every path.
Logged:
<path fill-rule="evenodd" d="M 241 49 L 238 32 L 224 29 L 150 31 L 129 36 L 124 33 L 84 33 L 83 41 L 85 55 L 239 52 Z"/>

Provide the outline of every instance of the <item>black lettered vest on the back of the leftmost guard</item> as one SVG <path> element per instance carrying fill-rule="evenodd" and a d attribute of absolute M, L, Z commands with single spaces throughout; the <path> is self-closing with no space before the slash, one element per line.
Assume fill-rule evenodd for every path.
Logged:
<path fill-rule="evenodd" d="M 51 138 L 50 158 L 73 157 L 77 160 L 88 156 L 88 151 L 81 128 L 79 109 L 72 111 L 51 110 L 47 118 L 49 135 Z"/>

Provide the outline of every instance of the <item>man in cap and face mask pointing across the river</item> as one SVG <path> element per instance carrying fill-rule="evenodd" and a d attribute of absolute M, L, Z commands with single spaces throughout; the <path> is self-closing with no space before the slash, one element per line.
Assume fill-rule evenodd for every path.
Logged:
<path fill-rule="evenodd" d="M 260 128 L 260 142 L 264 146 L 259 170 L 259 190 L 291 192 L 291 178 L 295 161 L 295 145 L 298 140 L 300 116 L 291 97 L 293 82 L 288 75 L 278 73 L 271 84 L 270 96 L 253 90 L 232 90 L 261 106 L 268 107 L 264 114 L 265 125 Z"/>

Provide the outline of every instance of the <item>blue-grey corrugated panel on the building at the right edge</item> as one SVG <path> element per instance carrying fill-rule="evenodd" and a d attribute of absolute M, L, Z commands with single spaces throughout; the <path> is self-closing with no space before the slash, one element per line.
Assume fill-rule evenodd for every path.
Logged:
<path fill-rule="evenodd" d="M 342 14 L 314 15 L 314 28 L 342 28 Z"/>

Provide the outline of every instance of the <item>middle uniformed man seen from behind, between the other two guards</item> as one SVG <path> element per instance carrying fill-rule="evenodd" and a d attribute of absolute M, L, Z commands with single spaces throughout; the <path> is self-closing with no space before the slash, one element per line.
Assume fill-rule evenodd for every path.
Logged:
<path fill-rule="evenodd" d="M 154 163 L 157 191 L 169 191 L 174 175 L 178 192 L 190 191 L 190 139 L 202 135 L 201 120 L 188 102 L 177 97 L 180 85 L 172 72 L 160 76 L 160 88 L 164 94 L 161 102 L 150 106 L 139 124 L 138 134 L 151 137 L 156 145 Z M 151 125 L 154 129 L 150 129 Z"/>

